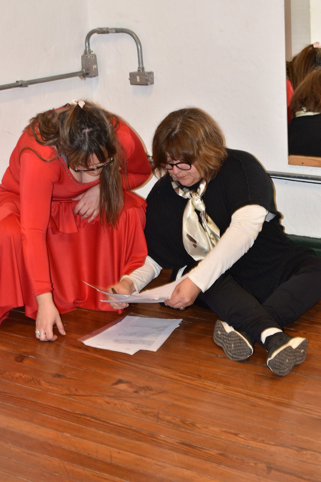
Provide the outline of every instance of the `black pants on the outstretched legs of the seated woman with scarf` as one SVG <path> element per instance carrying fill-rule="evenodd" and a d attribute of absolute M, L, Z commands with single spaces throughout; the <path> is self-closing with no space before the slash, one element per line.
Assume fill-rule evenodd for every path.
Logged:
<path fill-rule="evenodd" d="M 279 275 L 277 288 L 260 302 L 227 272 L 205 293 L 199 302 L 235 330 L 260 342 L 266 328 L 283 328 L 297 320 L 321 298 L 321 257 L 298 254 L 288 261 Z"/>

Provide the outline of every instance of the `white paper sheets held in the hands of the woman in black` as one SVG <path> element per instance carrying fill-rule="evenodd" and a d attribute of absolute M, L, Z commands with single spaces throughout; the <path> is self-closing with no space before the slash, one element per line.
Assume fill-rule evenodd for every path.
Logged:
<path fill-rule="evenodd" d="M 100 300 L 103 303 L 160 303 L 162 301 L 168 300 L 172 296 L 175 286 L 185 278 L 187 278 L 187 274 L 182 276 L 182 278 L 180 278 L 179 280 L 163 284 L 151 290 L 142 291 L 141 293 L 133 293 L 133 295 L 111 294 L 107 293 L 107 291 L 100 290 L 93 284 L 86 283 L 86 281 L 84 281 L 84 283 L 88 284 L 88 286 L 91 286 L 100 293 L 104 293 L 105 295 L 116 298 L 114 300 Z"/>

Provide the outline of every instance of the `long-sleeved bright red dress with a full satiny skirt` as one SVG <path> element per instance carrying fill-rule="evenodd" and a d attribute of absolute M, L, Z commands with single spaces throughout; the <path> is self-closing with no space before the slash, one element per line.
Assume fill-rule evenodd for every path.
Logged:
<path fill-rule="evenodd" d="M 150 175 L 144 148 L 120 120 L 117 136 L 127 160 L 129 188 Z M 27 148 L 26 148 L 27 147 Z M 42 161 L 56 154 L 27 131 L 21 135 L 0 184 L 0 322 L 12 308 L 25 306 L 36 319 L 36 295 L 53 293 L 60 313 L 75 308 L 112 310 L 83 281 L 107 288 L 141 266 L 147 256 L 146 202 L 128 188 L 117 228 L 102 227 L 73 214 L 71 198 L 99 183 L 77 181 L 65 161 Z M 126 186 L 126 182 L 123 183 Z"/>

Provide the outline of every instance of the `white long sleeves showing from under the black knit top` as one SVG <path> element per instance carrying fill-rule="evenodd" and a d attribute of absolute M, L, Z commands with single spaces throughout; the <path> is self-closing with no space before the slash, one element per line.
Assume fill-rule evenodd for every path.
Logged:
<path fill-rule="evenodd" d="M 233 266 L 243 254 L 254 244 L 262 229 L 268 211 L 258 204 L 243 206 L 231 217 L 231 222 L 222 238 L 214 248 L 188 273 L 188 278 L 195 283 L 202 292 Z M 130 278 L 136 291 L 141 291 L 151 280 L 161 272 L 161 266 L 147 256 L 145 264 L 135 269 Z"/>

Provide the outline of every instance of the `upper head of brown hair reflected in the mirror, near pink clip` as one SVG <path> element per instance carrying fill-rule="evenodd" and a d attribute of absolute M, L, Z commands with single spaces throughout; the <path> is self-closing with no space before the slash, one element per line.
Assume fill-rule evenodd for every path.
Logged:
<path fill-rule="evenodd" d="M 293 89 L 316 68 L 321 67 L 321 48 L 307 45 L 301 52 L 286 63 L 286 73 Z"/>

